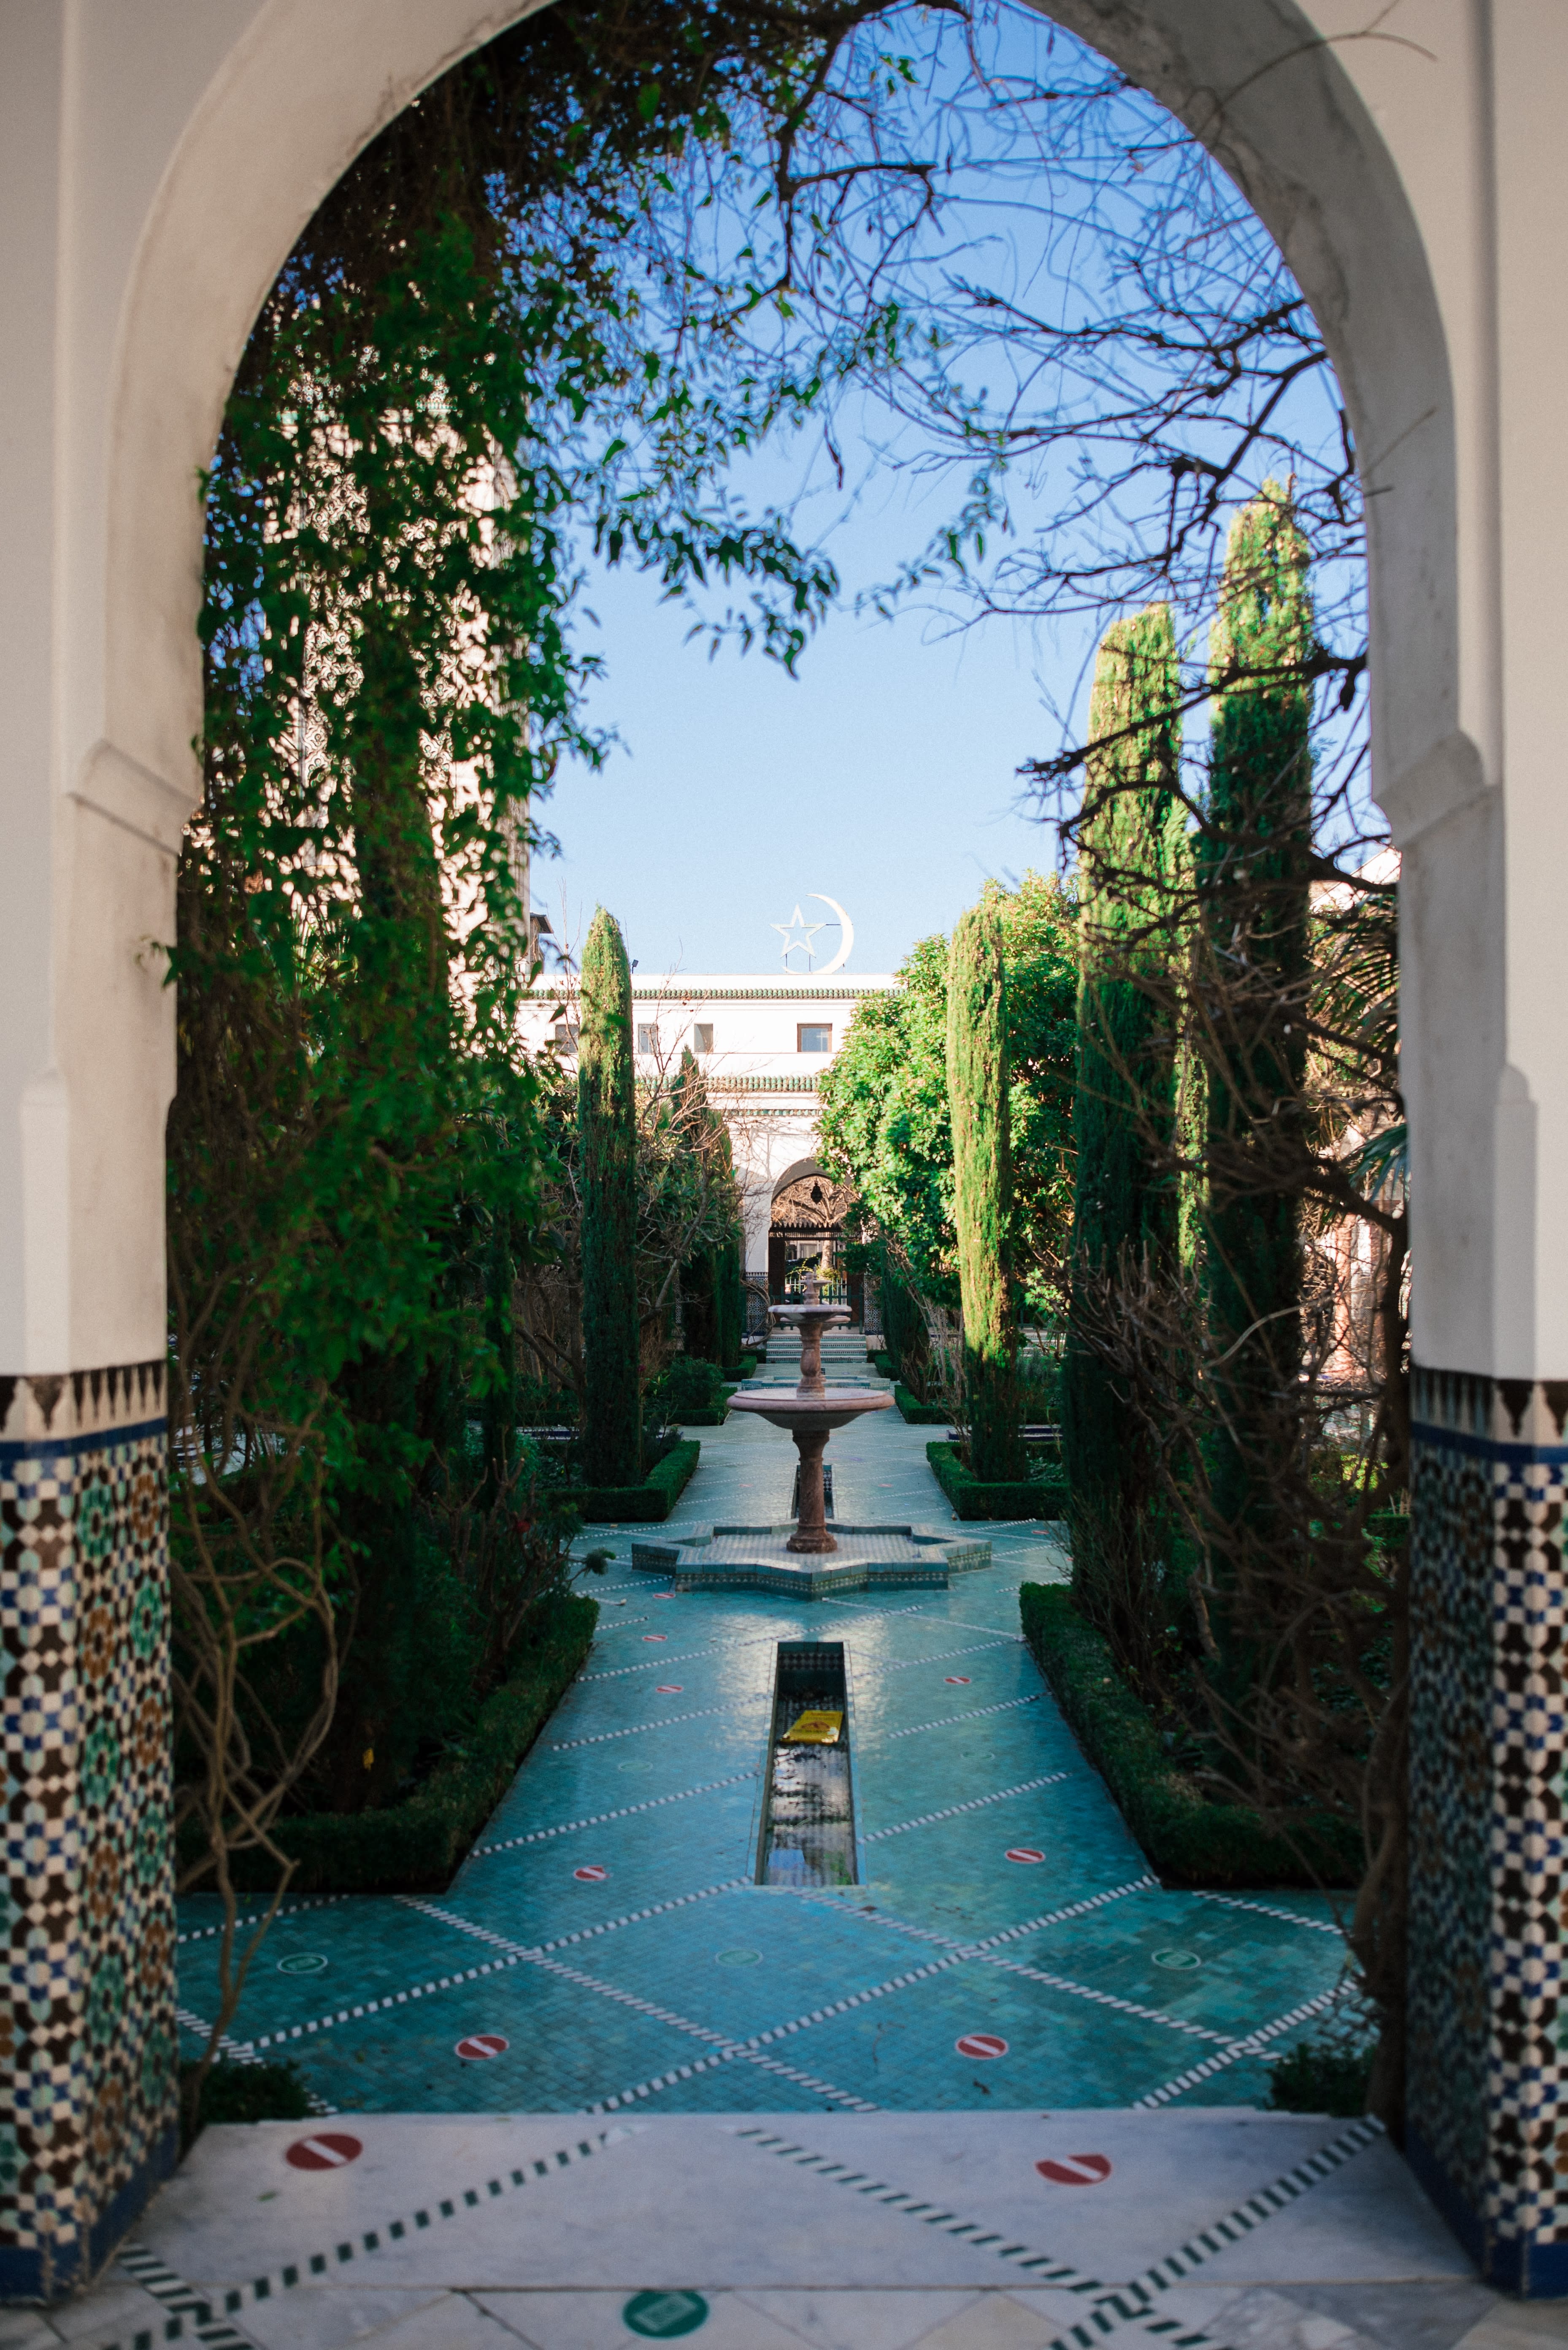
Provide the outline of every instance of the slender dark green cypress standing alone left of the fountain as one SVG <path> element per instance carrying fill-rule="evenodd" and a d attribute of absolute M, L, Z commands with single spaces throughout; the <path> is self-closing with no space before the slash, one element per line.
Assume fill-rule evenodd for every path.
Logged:
<path fill-rule="evenodd" d="M 643 1398 L 636 1311 L 636 1076 L 631 966 L 603 907 L 582 949 L 577 1039 L 582 1154 L 582 1473 L 589 1485 L 636 1485 Z"/>

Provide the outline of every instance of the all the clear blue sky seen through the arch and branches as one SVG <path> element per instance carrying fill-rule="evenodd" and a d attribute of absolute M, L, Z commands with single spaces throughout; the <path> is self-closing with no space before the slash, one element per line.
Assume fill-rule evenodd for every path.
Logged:
<path fill-rule="evenodd" d="M 941 141 L 955 141 L 944 207 L 930 235 L 922 230 L 925 242 L 908 249 L 915 301 L 981 284 L 1021 306 L 1021 315 L 1073 322 L 1103 303 L 1120 315 L 1120 254 L 1145 228 L 1155 240 L 1150 251 L 1171 256 L 1171 287 L 1192 277 L 1221 320 L 1230 317 L 1230 303 L 1246 308 L 1289 284 L 1263 233 L 1246 226 L 1235 190 L 1192 162 L 1185 136 L 1148 99 L 1124 92 L 1108 110 L 1091 110 L 1082 153 L 1073 110 L 1066 129 L 1047 122 L 1040 136 L 1047 146 L 1059 141 L 1066 176 L 1045 162 L 1026 120 L 993 106 L 995 89 L 1038 87 L 1047 63 L 1052 82 L 1082 73 L 1084 87 L 1096 87 L 1103 68 L 1089 52 L 1028 9 L 1002 9 L 993 63 L 1007 66 L 1012 80 L 979 92 L 967 78 L 967 52 L 941 49 L 941 26 L 911 16 L 906 31 L 930 47 L 932 89 L 951 82 L 948 96 L 969 92 L 972 103 L 965 99 L 967 113 L 937 110 L 927 122 L 922 108 L 937 101 L 930 92 L 911 96 L 908 139 L 939 125 Z M 1129 139 L 1143 141 L 1131 162 L 1131 148 L 1122 146 Z M 1174 212 L 1162 221 L 1167 207 Z M 1164 284 L 1164 263 L 1155 275 Z M 1153 383 L 1153 362 L 1136 343 L 1110 350 L 1099 385 L 1091 369 L 1054 374 L 1042 360 L 1049 336 L 998 341 L 988 317 L 965 296 L 955 298 L 948 324 L 958 320 L 953 383 L 962 400 L 979 395 L 991 416 L 1040 409 L 1096 423 L 1108 414 L 1106 400 L 1117 414 L 1127 402 L 1136 409 Z M 1331 385 L 1307 381 L 1277 421 L 1305 435 L 1303 446 L 1322 437 L 1338 463 Z M 606 665 L 587 717 L 620 740 L 601 773 L 559 776 L 540 820 L 559 837 L 561 855 L 540 855 L 533 877 L 533 902 L 570 947 L 582 942 L 594 907 L 606 905 L 643 971 L 768 971 L 779 964 L 772 924 L 786 921 L 796 905 L 807 919 L 824 916 L 826 907 L 810 895 L 819 891 L 854 921 L 850 968 L 890 971 L 918 938 L 951 931 L 986 877 L 1016 879 L 1030 865 L 1056 865 L 1056 832 L 1028 804 L 1016 771 L 1082 738 L 1099 627 L 1080 620 L 1035 632 L 1007 616 L 958 627 L 955 613 L 976 609 L 958 595 L 946 616 L 918 602 L 901 604 L 892 620 L 861 616 L 857 597 L 894 578 L 962 505 L 972 456 L 965 444 L 951 463 L 948 446 L 948 461 L 937 463 L 911 414 L 897 421 L 873 395 L 857 411 L 840 404 L 833 432 L 843 475 L 812 432 L 763 451 L 728 479 L 751 517 L 765 505 L 786 508 L 796 536 L 824 545 L 843 576 L 838 611 L 805 649 L 798 674 L 735 646 L 709 658 L 704 642 L 685 642 L 692 613 L 662 604 L 648 576 L 615 571 L 587 580 L 580 644 Z M 1230 432 L 1232 423 L 1207 425 L 1202 416 L 1192 425 L 1199 446 L 1204 435 L 1221 446 Z M 885 439 L 904 463 L 878 454 Z M 1263 470 L 1275 463 L 1265 444 L 1253 454 Z M 1115 463 L 1113 449 L 1113 470 Z M 1009 475 L 1009 531 L 991 533 L 981 566 L 993 580 L 1000 571 L 1002 602 L 1019 599 L 1019 580 L 1023 602 L 1033 602 L 1035 533 L 1049 533 L 1054 550 L 1073 538 L 1075 482 L 1070 454 L 1023 461 Z M 1099 540 L 1136 550 L 1150 529 L 1143 515 L 1150 496 L 1153 540 L 1164 543 L 1167 486 L 1157 465 L 1153 482 L 1153 491 L 1141 484 L 1091 512 L 1077 555 L 1099 562 Z M 1110 611 L 1099 613 L 1099 625 L 1106 618 Z M 1195 651 L 1202 658 L 1202 639 Z M 1202 731 L 1204 717 L 1195 712 L 1192 750 Z M 819 933 L 824 956 L 836 945 L 836 931 Z"/>

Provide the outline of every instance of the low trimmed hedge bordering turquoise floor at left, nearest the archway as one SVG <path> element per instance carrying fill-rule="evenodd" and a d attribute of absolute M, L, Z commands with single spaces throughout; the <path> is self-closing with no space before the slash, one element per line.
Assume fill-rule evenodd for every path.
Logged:
<path fill-rule="evenodd" d="M 695 1450 L 695 1445 L 692 1445 Z M 439 1892 L 507 1793 L 519 1762 L 577 1678 L 594 1645 L 599 1600 L 566 1596 L 545 1617 L 542 1638 L 512 1680 L 479 1708 L 462 1748 L 383 1812 L 307 1812 L 279 1819 L 275 1835 L 298 1868 L 296 1894 Z M 235 1882 L 270 1889 L 265 1854 L 235 1859 Z"/>

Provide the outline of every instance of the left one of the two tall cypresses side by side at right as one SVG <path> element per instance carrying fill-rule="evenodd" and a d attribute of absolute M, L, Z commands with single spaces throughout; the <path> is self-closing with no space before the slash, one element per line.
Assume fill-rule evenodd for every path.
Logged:
<path fill-rule="evenodd" d="M 1148 1640 L 1148 1441 L 1089 1344 L 1091 1292 L 1120 1267 L 1169 1262 L 1178 1187 L 1160 1166 L 1176 1116 L 1169 1027 L 1138 971 L 1169 966 L 1185 827 L 1176 634 L 1169 604 L 1103 637 L 1089 703 L 1080 832 L 1077 1088 L 1073 1097 L 1073 1309 L 1061 1422 L 1073 1586 L 1084 1612 L 1136 1659 Z"/>

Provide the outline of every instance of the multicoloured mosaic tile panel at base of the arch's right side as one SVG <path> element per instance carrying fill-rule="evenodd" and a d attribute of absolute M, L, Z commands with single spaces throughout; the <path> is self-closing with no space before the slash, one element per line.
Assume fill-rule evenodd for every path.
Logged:
<path fill-rule="evenodd" d="M 1415 1372 L 1411 2160 L 1483 2270 L 1568 2291 L 1568 1384 Z"/>

